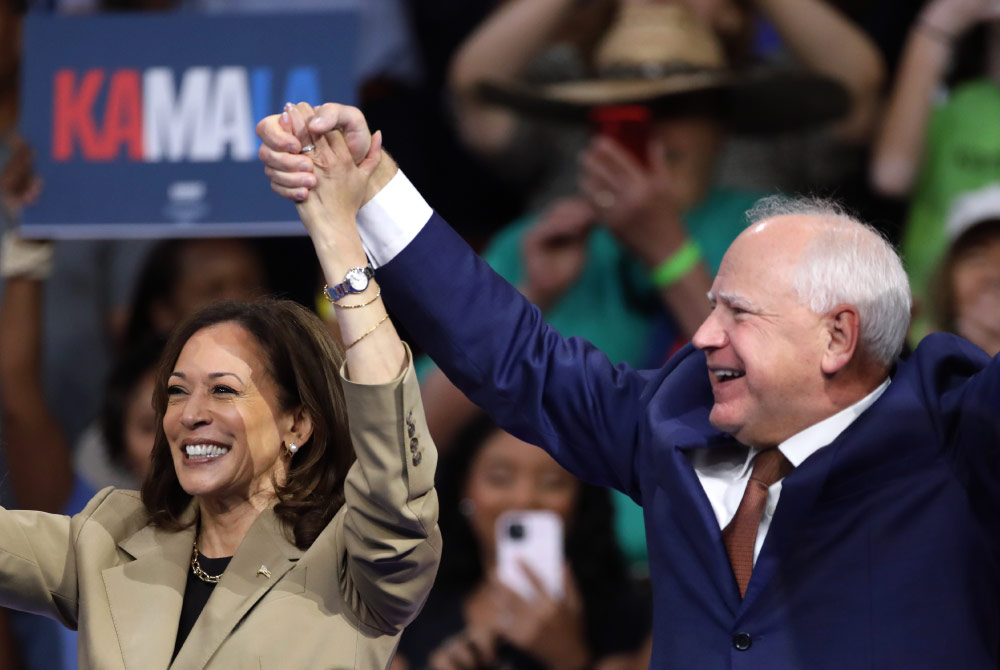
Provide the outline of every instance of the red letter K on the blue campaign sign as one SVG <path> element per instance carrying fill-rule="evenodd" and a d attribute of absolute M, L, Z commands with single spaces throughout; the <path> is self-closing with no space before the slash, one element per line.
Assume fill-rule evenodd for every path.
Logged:
<path fill-rule="evenodd" d="M 52 158 L 57 161 L 67 161 L 73 157 L 74 135 L 80 139 L 80 150 L 84 157 L 89 158 L 98 148 L 97 131 L 91 112 L 104 82 L 104 73 L 99 69 L 88 70 L 76 92 L 73 90 L 75 79 L 72 70 L 56 72 Z"/>

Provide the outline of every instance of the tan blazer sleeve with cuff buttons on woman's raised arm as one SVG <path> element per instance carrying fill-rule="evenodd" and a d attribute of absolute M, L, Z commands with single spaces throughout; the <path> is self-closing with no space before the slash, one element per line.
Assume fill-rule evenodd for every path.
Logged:
<path fill-rule="evenodd" d="M 416 617 L 441 558 L 437 450 L 408 347 L 407 358 L 387 384 L 343 381 L 357 461 L 344 487 L 341 590 L 363 623 L 388 634 Z"/>

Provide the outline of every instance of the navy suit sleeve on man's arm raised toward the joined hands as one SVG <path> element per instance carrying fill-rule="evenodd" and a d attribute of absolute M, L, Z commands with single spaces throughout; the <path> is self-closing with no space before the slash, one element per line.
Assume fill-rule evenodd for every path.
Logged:
<path fill-rule="evenodd" d="M 393 317 L 500 426 L 638 499 L 635 446 L 659 372 L 560 336 L 437 214 L 376 277 Z"/>

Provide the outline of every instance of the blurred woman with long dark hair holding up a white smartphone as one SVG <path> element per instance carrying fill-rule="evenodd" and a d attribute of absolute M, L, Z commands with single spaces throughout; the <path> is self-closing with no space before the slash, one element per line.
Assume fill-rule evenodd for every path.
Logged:
<path fill-rule="evenodd" d="M 407 627 L 394 667 L 645 668 L 649 602 L 629 578 L 606 489 L 582 484 L 544 451 L 483 416 L 442 456 L 441 573 Z M 525 599 L 495 577 L 496 522 L 510 510 L 563 521 L 563 597 Z M 529 568 L 530 569 L 530 568 Z"/>

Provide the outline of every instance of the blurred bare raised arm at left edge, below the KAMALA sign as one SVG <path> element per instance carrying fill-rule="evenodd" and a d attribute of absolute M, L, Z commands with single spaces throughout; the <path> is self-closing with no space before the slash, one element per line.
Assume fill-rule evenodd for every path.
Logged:
<path fill-rule="evenodd" d="M 42 388 L 42 295 L 51 246 L 15 233 L 3 240 L 0 423 L 9 482 L 24 509 L 58 512 L 73 488 L 69 445 Z"/>

